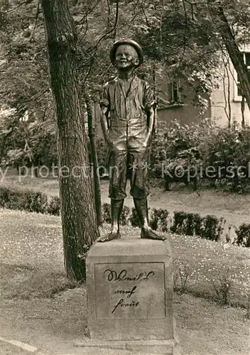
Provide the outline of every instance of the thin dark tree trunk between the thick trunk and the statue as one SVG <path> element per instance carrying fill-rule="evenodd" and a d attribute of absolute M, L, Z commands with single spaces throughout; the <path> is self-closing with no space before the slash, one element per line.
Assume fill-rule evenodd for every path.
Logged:
<path fill-rule="evenodd" d="M 97 158 L 97 141 L 95 137 L 95 112 L 94 112 L 94 102 L 92 102 L 87 95 L 85 96 L 85 102 L 87 105 L 87 125 L 89 129 L 89 141 L 91 146 L 91 156 L 92 164 L 94 170 L 94 204 L 95 211 L 97 214 L 97 223 L 102 226 L 102 194 L 101 194 L 101 183 L 99 178 L 98 170 L 98 158 Z"/>

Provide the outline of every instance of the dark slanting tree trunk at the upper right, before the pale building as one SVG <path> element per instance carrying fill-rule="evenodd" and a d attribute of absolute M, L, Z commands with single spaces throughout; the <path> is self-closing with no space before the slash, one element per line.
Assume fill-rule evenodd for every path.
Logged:
<path fill-rule="evenodd" d="M 237 71 L 240 82 L 240 89 L 243 96 L 246 98 L 246 102 L 250 109 L 250 73 L 244 63 L 242 53 L 238 48 L 234 34 L 229 26 L 227 17 L 224 14 L 222 6 L 214 6 L 212 12 L 218 18 L 219 31 L 222 35 L 224 45 L 227 48 L 230 59 L 234 65 L 234 69 Z"/>

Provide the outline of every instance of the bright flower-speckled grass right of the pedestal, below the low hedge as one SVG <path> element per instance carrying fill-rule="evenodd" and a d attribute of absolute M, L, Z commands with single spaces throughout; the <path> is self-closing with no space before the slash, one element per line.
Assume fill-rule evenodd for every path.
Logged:
<path fill-rule="evenodd" d="M 229 303 L 246 307 L 250 287 L 249 249 L 200 239 L 170 236 L 175 273 L 185 265 L 189 291 L 218 298 L 228 286 Z"/>

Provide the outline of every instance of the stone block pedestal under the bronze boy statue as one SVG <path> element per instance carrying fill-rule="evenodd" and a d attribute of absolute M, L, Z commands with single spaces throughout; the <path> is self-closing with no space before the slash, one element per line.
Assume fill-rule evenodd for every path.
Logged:
<path fill-rule="evenodd" d="M 92 346 L 173 354 L 173 263 L 168 241 L 96 243 L 86 263 Z"/>

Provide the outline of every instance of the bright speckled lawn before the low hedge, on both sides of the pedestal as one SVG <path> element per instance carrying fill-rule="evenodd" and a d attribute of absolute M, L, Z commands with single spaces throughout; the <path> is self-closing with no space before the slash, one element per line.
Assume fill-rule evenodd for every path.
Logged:
<path fill-rule="evenodd" d="M 10 260 L 11 265 L 23 265 L 27 270 L 34 268 L 34 281 L 38 280 L 36 268 L 41 266 L 46 266 L 49 273 L 53 272 L 55 275 L 63 272 L 59 217 L 0 209 L 0 220 L 0 256 L 7 268 Z M 102 233 L 108 229 L 108 225 L 104 226 Z M 123 226 L 122 234 L 136 235 L 138 229 Z M 246 307 L 250 280 L 249 249 L 195 236 L 170 234 L 169 238 L 173 249 L 174 281 L 177 289 L 182 288 L 183 291 L 188 290 L 205 297 L 222 297 L 228 288 L 229 303 Z M 8 280 L 5 281 L 9 283 Z M 38 288 L 33 288 L 32 283 L 33 280 L 30 283 L 32 292 L 39 294 L 39 287 L 44 286 L 43 280 L 38 282 Z M 19 296 L 24 293 L 23 297 L 28 297 L 28 288 L 18 290 L 16 283 L 13 292 Z M 44 287 L 42 292 L 47 292 Z"/>

